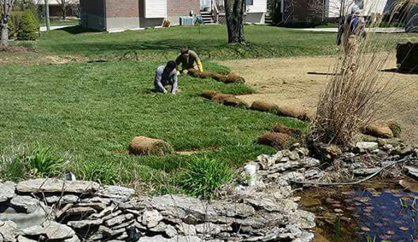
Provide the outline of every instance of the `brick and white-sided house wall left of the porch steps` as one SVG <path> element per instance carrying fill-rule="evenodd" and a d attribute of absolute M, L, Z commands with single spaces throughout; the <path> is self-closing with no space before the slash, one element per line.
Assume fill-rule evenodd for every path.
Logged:
<path fill-rule="evenodd" d="M 82 27 L 120 31 L 178 24 L 181 16 L 200 12 L 200 0 L 80 0 Z"/>

